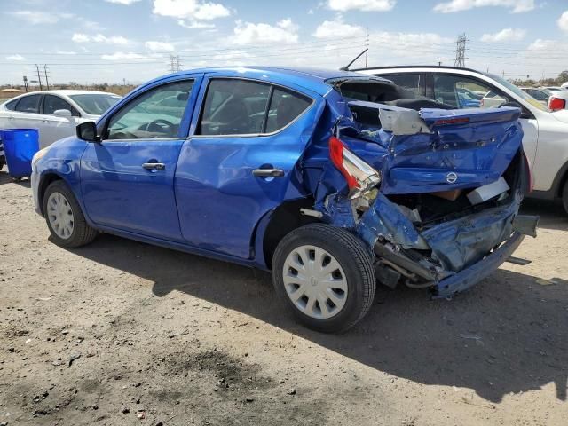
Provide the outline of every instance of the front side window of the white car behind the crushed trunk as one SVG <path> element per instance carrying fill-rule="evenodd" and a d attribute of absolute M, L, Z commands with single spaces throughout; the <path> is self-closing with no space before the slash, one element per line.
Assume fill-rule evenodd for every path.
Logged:
<path fill-rule="evenodd" d="M 434 75 L 434 99 L 454 108 L 491 108 L 510 102 L 489 84 L 463 75 Z"/>

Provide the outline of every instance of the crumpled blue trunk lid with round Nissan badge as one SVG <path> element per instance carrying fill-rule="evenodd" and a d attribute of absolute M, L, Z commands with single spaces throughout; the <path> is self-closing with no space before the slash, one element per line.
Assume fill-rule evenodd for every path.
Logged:
<path fill-rule="evenodd" d="M 382 171 L 384 194 L 489 185 L 507 170 L 523 138 L 520 110 L 514 107 L 414 111 L 360 101 L 350 106 L 378 110 L 381 129 L 373 136 L 388 154 L 380 163 L 363 156 Z"/>

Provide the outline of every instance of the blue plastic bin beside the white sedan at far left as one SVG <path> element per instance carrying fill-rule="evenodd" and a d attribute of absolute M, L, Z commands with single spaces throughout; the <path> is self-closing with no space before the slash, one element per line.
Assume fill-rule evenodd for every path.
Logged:
<path fill-rule="evenodd" d="M 16 179 L 32 174 L 32 158 L 39 150 L 37 129 L 0 130 L 8 173 Z"/>

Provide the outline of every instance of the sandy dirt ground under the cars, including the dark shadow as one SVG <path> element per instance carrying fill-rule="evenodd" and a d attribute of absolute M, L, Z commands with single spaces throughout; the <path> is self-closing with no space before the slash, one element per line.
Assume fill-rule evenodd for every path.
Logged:
<path fill-rule="evenodd" d="M 379 290 L 344 335 L 298 326 L 263 272 L 111 235 L 49 240 L 0 172 L 0 424 L 562 425 L 568 217 L 452 301 Z"/>

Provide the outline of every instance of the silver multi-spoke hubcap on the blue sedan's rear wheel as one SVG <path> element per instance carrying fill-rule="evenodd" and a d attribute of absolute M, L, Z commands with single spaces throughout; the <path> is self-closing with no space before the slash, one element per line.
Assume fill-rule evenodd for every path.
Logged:
<path fill-rule="evenodd" d="M 295 248 L 286 258 L 282 272 L 286 293 L 300 312 L 327 319 L 343 309 L 347 279 L 339 262 L 323 248 Z"/>

